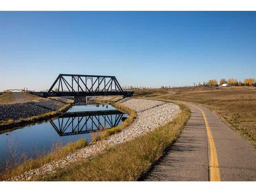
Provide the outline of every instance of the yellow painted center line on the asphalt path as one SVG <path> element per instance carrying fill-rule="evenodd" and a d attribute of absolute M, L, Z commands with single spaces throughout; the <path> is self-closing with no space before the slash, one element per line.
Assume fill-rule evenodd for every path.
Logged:
<path fill-rule="evenodd" d="M 195 105 L 193 105 L 195 106 Z M 201 113 L 203 114 L 204 117 L 204 122 L 206 126 L 206 131 L 207 131 L 207 136 L 208 136 L 208 141 L 209 141 L 209 148 L 210 148 L 210 162 L 209 162 L 209 169 L 210 169 L 210 181 L 221 181 L 221 176 L 220 176 L 220 168 L 219 168 L 219 162 L 218 162 L 218 156 L 217 156 L 217 151 L 214 143 L 214 138 L 212 137 L 211 131 L 210 131 L 210 126 L 208 124 L 208 121 L 206 119 L 206 116 L 200 108 L 195 106 L 195 108 L 199 109 Z"/>

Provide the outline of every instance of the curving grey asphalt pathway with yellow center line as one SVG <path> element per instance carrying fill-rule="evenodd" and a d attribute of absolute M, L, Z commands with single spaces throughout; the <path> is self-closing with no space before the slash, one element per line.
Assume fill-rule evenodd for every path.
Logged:
<path fill-rule="evenodd" d="M 184 130 L 145 181 L 212 181 L 212 173 L 221 181 L 256 181 L 255 148 L 214 112 L 185 104 L 191 115 Z"/>

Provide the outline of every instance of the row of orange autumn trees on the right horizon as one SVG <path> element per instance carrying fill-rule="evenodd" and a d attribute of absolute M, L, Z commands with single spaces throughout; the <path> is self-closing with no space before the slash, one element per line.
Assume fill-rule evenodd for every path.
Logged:
<path fill-rule="evenodd" d="M 219 84 L 216 79 L 210 79 L 210 80 L 208 80 L 208 82 L 203 82 L 203 84 L 201 84 L 201 82 L 199 82 L 198 86 L 216 87 L 219 85 L 221 86 L 222 84 L 225 84 L 225 83 L 230 84 L 230 86 L 254 86 L 254 87 L 256 87 L 256 82 L 255 82 L 254 78 L 244 79 L 243 82 L 241 80 L 238 81 L 236 78 L 229 78 L 227 80 L 225 78 L 222 78 L 222 79 L 220 79 Z"/>

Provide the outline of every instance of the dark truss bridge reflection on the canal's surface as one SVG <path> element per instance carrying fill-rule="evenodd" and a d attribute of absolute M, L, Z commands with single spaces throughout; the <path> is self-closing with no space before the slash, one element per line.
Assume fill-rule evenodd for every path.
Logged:
<path fill-rule="evenodd" d="M 50 123 L 59 136 L 101 131 L 117 126 L 127 118 L 118 110 L 65 113 Z"/>

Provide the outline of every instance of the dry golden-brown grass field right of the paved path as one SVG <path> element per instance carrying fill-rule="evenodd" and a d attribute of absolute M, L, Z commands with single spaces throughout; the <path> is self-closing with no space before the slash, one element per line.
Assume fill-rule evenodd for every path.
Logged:
<path fill-rule="evenodd" d="M 215 111 L 233 130 L 239 132 L 256 147 L 256 88 L 183 87 L 165 90 L 168 93 L 157 98 L 198 103 Z M 159 91 L 156 91 L 159 93 Z M 139 95 L 139 94 L 137 94 Z M 155 98 L 156 94 L 140 94 Z"/>

